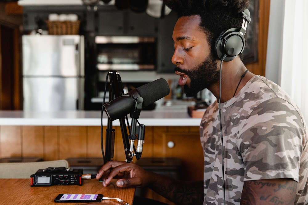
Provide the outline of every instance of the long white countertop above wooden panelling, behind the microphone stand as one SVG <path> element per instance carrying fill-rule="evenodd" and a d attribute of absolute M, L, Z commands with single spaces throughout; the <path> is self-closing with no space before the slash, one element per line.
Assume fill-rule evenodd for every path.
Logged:
<path fill-rule="evenodd" d="M 100 115 L 100 111 L 0 111 L 0 125 L 100 126 Z M 146 126 L 199 126 L 201 119 L 191 118 L 187 109 L 167 107 L 143 110 L 138 121 Z M 120 126 L 119 120 L 114 120 L 112 124 Z M 107 116 L 103 112 L 103 126 L 106 125 Z"/>

